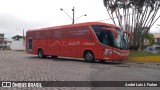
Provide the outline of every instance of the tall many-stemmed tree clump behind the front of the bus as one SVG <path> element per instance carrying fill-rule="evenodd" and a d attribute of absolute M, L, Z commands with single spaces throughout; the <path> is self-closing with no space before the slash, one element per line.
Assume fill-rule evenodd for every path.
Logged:
<path fill-rule="evenodd" d="M 160 0 L 103 0 L 113 23 L 132 33 L 131 47 L 138 49 L 160 18 Z M 116 17 L 116 18 L 115 18 Z"/>

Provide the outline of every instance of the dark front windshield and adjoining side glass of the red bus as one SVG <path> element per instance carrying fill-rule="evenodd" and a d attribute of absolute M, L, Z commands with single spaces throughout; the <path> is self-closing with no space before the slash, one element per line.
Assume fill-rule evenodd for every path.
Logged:
<path fill-rule="evenodd" d="M 124 37 L 123 30 L 121 30 L 120 28 L 99 25 L 93 25 L 92 28 L 100 43 L 121 50 L 128 49 L 128 45 Z M 103 28 L 105 28 L 105 30 Z M 113 32 L 107 30 L 107 28 L 115 29 L 118 32 L 118 37 L 115 38 Z"/>

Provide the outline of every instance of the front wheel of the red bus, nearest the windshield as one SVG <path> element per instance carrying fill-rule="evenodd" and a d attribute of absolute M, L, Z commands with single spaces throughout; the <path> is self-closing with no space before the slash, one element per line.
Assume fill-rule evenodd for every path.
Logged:
<path fill-rule="evenodd" d="M 84 59 L 86 62 L 95 62 L 95 59 L 94 59 L 94 54 L 92 53 L 92 51 L 86 51 L 84 53 Z"/>

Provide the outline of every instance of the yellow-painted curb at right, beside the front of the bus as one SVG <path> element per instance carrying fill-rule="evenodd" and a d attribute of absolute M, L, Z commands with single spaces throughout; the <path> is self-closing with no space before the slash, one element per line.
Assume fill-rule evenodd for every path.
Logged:
<path fill-rule="evenodd" d="M 128 62 L 160 62 L 160 56 L 131 57 Z"/>

